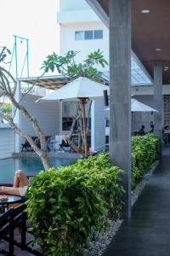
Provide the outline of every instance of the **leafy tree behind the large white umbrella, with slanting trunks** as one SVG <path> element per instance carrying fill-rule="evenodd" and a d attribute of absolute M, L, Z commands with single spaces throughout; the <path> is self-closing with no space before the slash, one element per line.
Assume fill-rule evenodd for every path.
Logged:
<path fill-rule="evenodd" d="M 76 56 L 78 52 L 74 50 L 69 50 L 65 56 L 56 55 L 53 53 L 52 55 L 48 55 L 47 60 L 43 61 L 42 68 L 44 72 L 48 73 L 48 71 L 57 71 L 65 77 L 66 82 L 70 82 L 78 77 L 86 77 L 88 79 L 92 79 L 96 82 L 101 80 L 101 73 L 97 66 L 105 67 L 108 65 L 107 61 L 105 61 L 104 55 L 102 52 L 97 49 L 93 53 L 90 53 L 87 58 L 83 61 L 83 63 L 76 62 Z M 91 103 L 88 109 L 88 125 L 87 125 L 87 134 L 89 127 L 89 118 L 90 118 L 90 108 Z M 78 146 L 71 141 L 72 133 L 74 131 L 75 124 L 78 124 Z M 76 115 L 73 118 L 73 122 L 71 125 L 71 131 L 68 137 L 68 143 L 74 148 L 77 152 L 84 154 L 84 137 L 82 134 L 82 106 L 80 103 L 76 103 Z"/>

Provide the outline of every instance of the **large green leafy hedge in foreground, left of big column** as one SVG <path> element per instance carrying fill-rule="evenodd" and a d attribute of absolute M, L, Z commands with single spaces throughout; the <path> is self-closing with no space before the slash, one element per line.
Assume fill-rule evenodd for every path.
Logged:
<path fill-rule="evenodd" d="M 103 153 L 32 178 L 28 217 L 43 253 L 78 254 L 82 245 L 105 228 L 108 216 L 119 217 L 120 172 Z"/>

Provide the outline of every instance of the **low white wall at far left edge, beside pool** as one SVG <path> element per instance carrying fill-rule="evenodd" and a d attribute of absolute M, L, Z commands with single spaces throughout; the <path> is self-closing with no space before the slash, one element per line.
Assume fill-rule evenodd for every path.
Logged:
<path fill-rule="evenodd" d="M 14 153 L 14 131 L 0 128 L 0 159 L 11 157 Z"/>

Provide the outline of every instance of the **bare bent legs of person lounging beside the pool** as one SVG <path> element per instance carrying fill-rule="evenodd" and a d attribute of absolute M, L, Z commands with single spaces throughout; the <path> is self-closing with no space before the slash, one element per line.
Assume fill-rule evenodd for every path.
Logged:
<path fill-rule="evenodd" d="M 21 170 L 17 170 L 14 173 L 13 187 L 1 186 L 0 193 L 24 196 L 26 195 L 26 189 L 28 188 L 28 184 L 29 182 L 26 174 Z"/>

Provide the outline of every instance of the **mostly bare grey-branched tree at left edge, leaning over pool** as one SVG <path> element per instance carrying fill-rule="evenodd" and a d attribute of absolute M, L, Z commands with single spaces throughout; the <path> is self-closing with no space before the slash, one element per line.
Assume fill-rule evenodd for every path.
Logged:
<path fill-rule="evenodd" d="M 7 49 L 7 47 L 0 48 L 0 63 L 1 64 L 7 63 L 5 61 L 5 59 L 8 54 L 10 54 L 10 51 Z M 13 84 L 13 85 L 11 85 L 11 84 Z M 16 80 L 14 79 L 14 77 L 12 76 L 12 74 L 8 73 L 7 69 L 5 69 L 1 65 L 0 66 L 0 97 L 1 96 L 7 97 L 12 102 L 14 108 L 18 109 L 20 111 L 20 113 L 22 113 L 26 117 L 26 119 L 28 119 L 30 121 L 37 137 L 40 140 L 41 147 L 40 148 L 37 147 L 37 144 L 32 140 L 31 136 L 28 133 L 20 130 L 20 127 L 18 127 L 14 123 L 14 116 L 11 116 L 10 113 L 8 113 L 8 112 L 3 113 L 3 109 L 1 109 L 0 117 L 2 119 L 5 119 L 6 121 L 8 121 L 8 124 L 10 125 L 10 127 L 20 137 L 24 137 L 27 139 L 27 141 L 31 144 L 31 148 L 33 148 L 33 150 L 41 158 L 44 169 L 48 170 L 48 168 L 50 167 L 50 164 L 49 164 L 49 160 L 48 160 L 47 143 L 46 143 L 45 136 L 37 123 L 37 119 L 35 119 L 33 116 L 31 116 L 31 113 L 29 113 L 26 110 L 26 108 L 21 104 L 23 97 L 26 96 L 26 94 L 29 92 L 30 89 L 26 92 L 26 94 L 24 96 L 21 97 L 20 101 L 17 102 L 15 99 L 15 96 L 14 96 L 16 86 L 17 86 L 17 83 L 16 83 Z"/>

